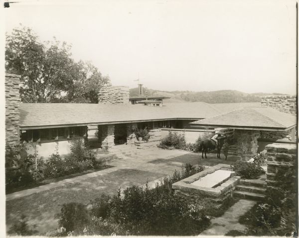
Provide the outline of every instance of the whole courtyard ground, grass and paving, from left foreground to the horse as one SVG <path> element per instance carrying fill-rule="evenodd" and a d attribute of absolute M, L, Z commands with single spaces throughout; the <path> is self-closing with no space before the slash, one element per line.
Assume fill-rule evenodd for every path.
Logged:
<path fill-rule="evenodd" d="M 19 218 L 21 214 L 28 217 L 29 225 L 36 224 L 40 234 L 57 228 L 55 214 L 60 206 L 68 202 L 87 204 L 101 194 L 115 195 L 121 187 L 144 185 L 147 180 L 150 187 L 164 176 L 180 170 L 182 164 L 198 164 L 200 153 L 180 150 L 163 150 L 156 147 L 121 153 L 118 158 L 109 161 L 113 168 L 83 176 L 74 177 L 24 190 L 6 196 L 6 229 Z M 203 165 L 218 163 L 233 163 L 236 158 L 228 157 L 227 161 L 219 160 L 216 154 L 207 154 L 209 159 L 201 159 Z"/>

